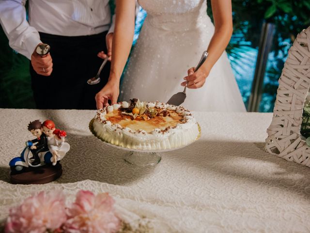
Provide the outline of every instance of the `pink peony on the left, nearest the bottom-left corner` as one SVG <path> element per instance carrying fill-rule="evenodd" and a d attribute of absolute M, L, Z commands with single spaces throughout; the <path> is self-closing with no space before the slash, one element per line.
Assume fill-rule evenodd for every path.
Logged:
<path fill-rule="evenodd" d="M 45 233 L 59 228 L 66 220 L 62 191 L 44 191 L 10 209 L 5 225 L 6 233 Z"/>

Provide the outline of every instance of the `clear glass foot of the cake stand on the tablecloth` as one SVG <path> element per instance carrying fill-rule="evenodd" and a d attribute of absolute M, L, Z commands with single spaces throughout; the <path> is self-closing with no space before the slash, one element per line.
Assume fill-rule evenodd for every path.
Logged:
<path fill-rule="evenodd" d="M 158 164 L 161 156 L 155 152 L 130 151 L 124 157 L 124 161 L 132 166 L 149 167 Z"/>

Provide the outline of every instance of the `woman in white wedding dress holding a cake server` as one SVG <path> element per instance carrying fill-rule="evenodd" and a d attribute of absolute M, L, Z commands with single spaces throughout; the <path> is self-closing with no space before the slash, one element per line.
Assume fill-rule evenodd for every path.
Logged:
<path fill-rule="evenodd" d="M 108 100 L 116 103 L 119 94 L 119 100 L 167 102 L 187 83 L 182 105 L 189 110 L 246 111 L 225 52 L 233 32 L 231 0 L 211 0 L 215 26 L 206 14 L 206 0 L 138 1 L 147 17 L 121 93 L 120 77 L 134 34 L 135 0 L 116 1 L 110 77 L 96 95 L 97 108 L 108 105 Z M 206 49 L 206 61 L 194 72 Z"/>

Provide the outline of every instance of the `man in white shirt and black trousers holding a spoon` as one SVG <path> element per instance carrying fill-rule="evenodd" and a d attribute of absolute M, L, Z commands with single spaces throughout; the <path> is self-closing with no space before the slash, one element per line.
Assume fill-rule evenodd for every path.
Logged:
<path fill-rule="evenodd" d="M 95 94 L 107 83 L 87 84 L 111 55 L 114 25 L 109 0 L 0 0 L 0 23 L 12 49 L 31 60 L 31 87 L 37 108 L 95 109 Z M 41 43 L 50 53 L 35 52 Z M 108 48 L 107 48 L 108 47 Z"/>

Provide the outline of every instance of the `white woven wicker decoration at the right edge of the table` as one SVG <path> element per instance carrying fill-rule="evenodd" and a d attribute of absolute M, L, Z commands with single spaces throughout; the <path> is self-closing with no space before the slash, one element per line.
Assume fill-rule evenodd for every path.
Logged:
<path fill-rule="evenodd" d="M 283 159 L 310 166 L 310 147 L 300 137 L 310 87 L 310 27 L 297 35 L 284 64 L 265 149 Z"/>

